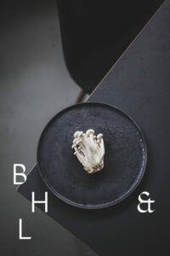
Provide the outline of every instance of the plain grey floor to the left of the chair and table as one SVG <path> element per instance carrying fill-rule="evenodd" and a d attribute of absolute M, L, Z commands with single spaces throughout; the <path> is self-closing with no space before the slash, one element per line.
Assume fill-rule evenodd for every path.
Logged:
<path fill-rule="evenodd" d="M 95 255 L 38 208 L 31 213 L 30 202 L 13 184 L 13 164 L 30 171 L 42 128 L 73 104 L 80 91 L 65 67 L 56 3 L 17 0 L 0 5 L 0 254 Z M 31 241 L 19 240 L 19 218 Z"/>

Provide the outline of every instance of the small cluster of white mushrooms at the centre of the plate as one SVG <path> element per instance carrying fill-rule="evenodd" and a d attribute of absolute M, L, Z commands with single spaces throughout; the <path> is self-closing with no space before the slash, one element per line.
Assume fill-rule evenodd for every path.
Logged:
<path fill-rule="evenodd" d="M 74 137 L 72 148 L 83 169 L 88 173 L 101 171 L 104 167 L 105 155 L 103 134 L 99 133 L 95 136 L 94 130 L 89 129 L 86 133 L 76 131 Z"/>

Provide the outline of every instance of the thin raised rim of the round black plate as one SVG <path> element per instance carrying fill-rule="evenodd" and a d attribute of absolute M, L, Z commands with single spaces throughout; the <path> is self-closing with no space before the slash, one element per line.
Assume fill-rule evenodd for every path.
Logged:
<path fill-rule="evenodd" d="M 58 118 L 61 114 L 67 112 L 68 110 L 71 110 L 72 108 L 77 108 L 78 106 L 83 106 L 83 105 L 101 105 L 101 106 L 104 106 L 104 107 L 109 107 L 109 108 L 114 108 L 116 109 L 117 111 L 123 113 L 123 115 L 125 115 L 128 119 L 130 119 L 133 124 L 137 127 L 137 129 L 139 130 L 139 133 L 140 133 L 140 136 L 142 137 L 142 141 L 143 141 L 143 144 L 144 144 L 144 165 L 143 165 L 143 168 L 142 168 L 142 172 L 140 173 L 139 175 L 139 178 L 138 180 L 136 181 L 136 183 L 134 184 L 133 188 L 132 189 L 128 189 L 127 192 L 125 193 L 125 195 L 123 195 L 122 197 L 116 199 L 115 201 L 111 201 L 110 203 L 105 203 L 105 204 L 100 204 L 100 205 L 96 205 L 96 206 L 87 206 L 87 205 L 83 205 L 83 204 L 80 204 L 80 203 L 77 203 L 77 202 L 74 202 L 74 201 L 70 201 L 68 200 L 67 198 L 65 198 L 64 196 L 60 195 L 59 193 L 57 193 L 53 187 L 48 184 L 48 182 L 46 181 L 46 178 L 43 177 L 42 175 L 42 172 L 41 172 L 41 167 L 40 167 L 40 161 L 39 161 L 39 148 L 40 148 L 40 144 L 42 142 L 42 137 L 43 137 L 43 134 L 45 133 L 45 131 L 48 129 L 48 126 L 53 123 L 54 119 Z M 39 140 L 38 140 L 38 143 L 37 143 L 37 169 L 38 169 L 38 172 L 40 174 L 40 177 L 42 178 L 42 181 L 43 183 L 48 187 L 48 189 L 56 196 L 58 197 L 61 201 L 64 201 L 65 203 L 73 206 L 73 207 L 77 207 L 77 208 L 82 208 L 82 209 L 88 209 L 88 210 L 95 210 L 95 209 L 103 209 L 103 208 L 108 208 L 108 207 L 111 207 L 111 206 L 114 206 L 116 205 L 117 203 L 121 202 L 121 201 L 124 201 L 129 195 L 131 195 L 133 193 L 133 191 L 135 189 L 137 189 L 137 187 L 139 186 L 139 183 L 141 182 L 142 178 L 144 177 L 144 172 L 146 170 L 146 165 L 147 165 L 147 160 L 148 160 L 148 150 L 147 150 L 147 144 L 146 144 L 146 141 L 145 141 L 145 138 L 144 138 L 144 133 L 140 127 L 140 125 L 135 121 L 135 119 L 133 119 L 129 114 L 127 114 L 125 111 L 123 111 L 121 108 L 117 108 L 111 104 L 108 104 L 108 103 L 104 103 L 104 102 L 80 102 L 80 103 L 77 103 L 77 104 L 74 104 L 74 105 L 71 105 L 67 108 L 64 108 L 62 109 L 61 111 L 59 111 L 58 113 L 56 113 L 54 115 L 54 117 L 52 119 L 50 119 L 47 123 L 47 125 L 44 126 L 43 130 L 42 130 L 42 133 L 39 137 Z"/>

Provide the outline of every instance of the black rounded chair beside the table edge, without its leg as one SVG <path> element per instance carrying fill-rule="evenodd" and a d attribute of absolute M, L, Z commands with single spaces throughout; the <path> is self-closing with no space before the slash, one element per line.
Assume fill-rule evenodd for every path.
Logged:
<path fill-rule="evenodd" d="M 56 0 L 65 62 L 91 93 L 162 0 Z"/>

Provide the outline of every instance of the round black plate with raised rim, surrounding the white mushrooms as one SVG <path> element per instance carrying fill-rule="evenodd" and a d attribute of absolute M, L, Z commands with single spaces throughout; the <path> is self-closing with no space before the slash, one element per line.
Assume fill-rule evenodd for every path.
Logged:
<path fill-rule="evenodd" d="M 103 133 L 105 168 L 88 174 L 71 148 L 75 131 Z M 120 109 L 99 102 L 80 103 L 54 116 L 42 131 L 37 163 L 54 195 L 75 206 L 104 208 L 130 195 L 144 175 L 147 151 L 143 134 Z"/>

